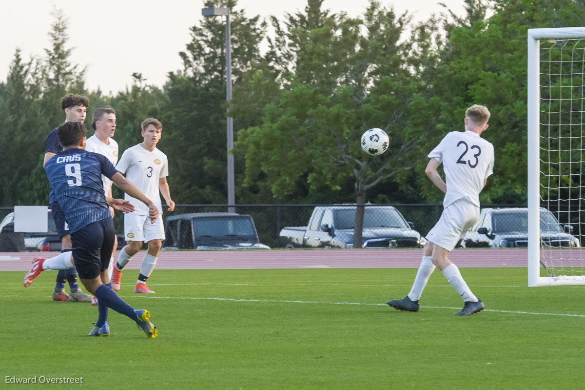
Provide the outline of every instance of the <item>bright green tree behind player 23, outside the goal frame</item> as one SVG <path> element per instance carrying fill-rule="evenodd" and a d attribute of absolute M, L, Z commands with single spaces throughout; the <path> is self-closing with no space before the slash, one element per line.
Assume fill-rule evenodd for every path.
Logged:
<path fill-rule="evenodd" d="M 527 160 L 527 30 L 581 26 L 585 22 L 584 5 L 572 0 L 497 0 L 492 3 L 489 18 L 485 17 L 484 2 L 466 0 L 466 5 L 466 18 L 445 23 L 448 43 L 442 47 L 440 60 L 426 70 L 431 95 L 442 100 L 437 138 L 461 129 L 464 111 L 470 105 L 487 105 L 492 117 L 483 136 L 494 144 L 496 162 L 494 176 L 482 191 L 481 200 L 524 202 L 526 175 L 518 172 L 526 172 Z M 421 188 L 427 200 L 442 197 L 428 180 L 423 182 Z"/>

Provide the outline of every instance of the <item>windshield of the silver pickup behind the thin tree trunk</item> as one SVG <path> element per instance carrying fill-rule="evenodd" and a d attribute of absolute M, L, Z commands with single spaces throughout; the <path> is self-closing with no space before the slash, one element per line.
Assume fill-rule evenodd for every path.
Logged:
<path fill-rule="evenodd" d="M 335 210 L 335 228 L 353 229 L 356 223 L 356 209 L 347 208 Z M 392 208 L 369 208 L 364 210 L 364 228 L 397 227 L 409 229 L 410 227 L 398 211 Z"/>

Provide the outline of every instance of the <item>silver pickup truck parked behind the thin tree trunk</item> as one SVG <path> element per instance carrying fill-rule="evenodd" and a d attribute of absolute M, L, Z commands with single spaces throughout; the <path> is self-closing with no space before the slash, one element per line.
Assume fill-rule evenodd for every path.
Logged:
<path fill-rule="evenodd" d="M 285 248 L 353 248 L 356 206 L 318 206 L 308 226 L 280 231 Z M 422 241 L 421 241 L 422 240 Z M 392 206 L 366 206 L 362 248 L 422 247 L 424 238 Z"/>

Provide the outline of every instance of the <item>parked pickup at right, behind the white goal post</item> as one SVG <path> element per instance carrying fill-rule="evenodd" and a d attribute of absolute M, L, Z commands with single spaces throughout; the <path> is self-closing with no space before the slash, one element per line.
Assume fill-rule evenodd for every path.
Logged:
<path fill-rule="evenodd" d="M 541 243 L 547 247 L 580 247 L 570 234 L 571 225 L 560 225 L 555 215 L 541 207 Z M 528 208 L 484 208 L 477 224 L 463 235 L 463 248 L 528 247 Z"/>

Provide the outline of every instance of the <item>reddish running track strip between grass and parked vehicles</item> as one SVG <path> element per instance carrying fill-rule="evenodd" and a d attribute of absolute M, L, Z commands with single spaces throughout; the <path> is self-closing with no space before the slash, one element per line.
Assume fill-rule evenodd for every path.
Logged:
<path fill-rule="evenodd" d="M 449 259 L 459 267 L 525 267 L 526 249 L 456 249 Z M 57 252 L 0 253 L 0 271 L 28 271 L 32 259 Z M 1 256 L 20 258 L 5 260 Z M 144 252 L 126 266 L 139 269 Z M 422 249 L 271 249 L 266 251 L 162 251 L 157 269 L 257 268 L 418 268 Z M 117 257 L 117 256 L 116 256 Z"/>

